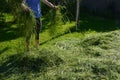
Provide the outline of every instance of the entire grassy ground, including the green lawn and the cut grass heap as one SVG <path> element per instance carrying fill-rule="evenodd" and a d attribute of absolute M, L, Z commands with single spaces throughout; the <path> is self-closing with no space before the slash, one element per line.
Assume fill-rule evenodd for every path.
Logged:
<path fill-rule="evenodd" d="M 87 15 L 84 18 L 89 25 L 83 24 L 84 19 L 81 18 L 79 29 L 83 31 L 80 32 L 75 32 L 74 22 L 62 25 L 54 35 L 49 34 L 49 29 L 42 31 L 39 50 L 33 47 L 33 35 L 30 52 L 24 50 L 24 38 L 9 38 L 9 34 L 3 36 L 0 33 L 3 36 L 0 36 L 3 38 L 0 42 L 0 79 L 119 80 L 119 23 Z M 8 27 L 8 31 L 13 25 Z M 104 30 L 104 27 L 109 29 Z M 7 33 L 5 27 L 0 31 Z"/>

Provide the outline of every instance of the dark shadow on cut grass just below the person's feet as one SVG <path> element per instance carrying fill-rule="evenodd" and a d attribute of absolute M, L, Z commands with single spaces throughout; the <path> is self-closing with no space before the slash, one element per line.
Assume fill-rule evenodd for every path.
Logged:
<path fill-rule="evenodd" d="M 0 65 L 0 79 L 11 74 L 44 73 L 48 67 L 58 66 L 63 62 L 57 55 L 47 54 L 41 51 L 37 54 L 18 53 L 8 57 L 7 61 Z"/>

